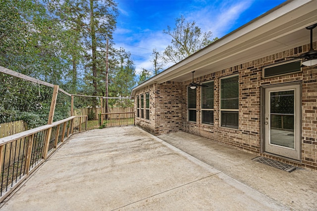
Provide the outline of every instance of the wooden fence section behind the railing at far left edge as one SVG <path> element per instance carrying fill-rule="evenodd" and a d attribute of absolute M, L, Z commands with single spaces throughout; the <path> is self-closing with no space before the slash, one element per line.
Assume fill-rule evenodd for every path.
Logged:
<path fill-rule="evenodd" d="M 27 124 L 23 120 L 11 123 L 2 123 L 0 124 L 0 138 L 23 132 L 25 130 L 27 130 Z"/>

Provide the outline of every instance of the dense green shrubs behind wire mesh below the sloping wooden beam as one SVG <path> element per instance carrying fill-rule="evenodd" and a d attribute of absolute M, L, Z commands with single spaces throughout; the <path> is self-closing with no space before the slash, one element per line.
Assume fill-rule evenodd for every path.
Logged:
<path fill-rule="evenodd" d="M 0 123 L 24 120 L 28 128 L 46 125 L 53 88 L 0 74 Z M 69 117 L 70 97 L 59 92 L 53 121 Z"/>

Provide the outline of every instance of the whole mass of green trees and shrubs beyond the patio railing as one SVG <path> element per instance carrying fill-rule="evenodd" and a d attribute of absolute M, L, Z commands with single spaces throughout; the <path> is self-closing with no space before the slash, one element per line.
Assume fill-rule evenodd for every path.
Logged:
<path fill-rule="evenodd" d="M 118 15 L 113 0 L 0 0 L 0 8 L 0 66 L 69 93 L 105 96 L 109 39 L 109 96 L 129 96 L 134 66 L 124 49 L 112 47 Z M 0 82 L 0 123 L 25 120 L 29 128 L 47 123 L 52 87 L 40 85 L 40 96 L 36 83 L 5 74 Z M 129 100 L 109 104 L 132 105 Z M 74 101 L 75 108 L 96 105 L 96 98 Z M 69 115 L 70 97 L 59 92 L 53 121 Z"/>

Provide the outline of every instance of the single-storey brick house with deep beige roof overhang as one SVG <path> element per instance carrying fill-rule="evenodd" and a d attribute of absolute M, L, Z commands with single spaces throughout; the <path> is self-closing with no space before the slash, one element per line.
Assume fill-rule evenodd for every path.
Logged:
<path fill-rule="evenodd" d="M 281 13 L 281 10 L 286 10 L 286 12 Z M 289 17 L 292 17 L 292 19 Z M 268 18 L 269 20 L 265 22 L 265 18 Z M 299 25 L 294 26 L 294 23 L 299 24 L 299 21 L 302 27 Z M 219 39 L 219 41 L 214 42 L 201 51 L 193 54 L 188 57 L 188 59 L 181 61 L 153 77 L 153 79 L 135 87 L 131 94 L 135 99 L 135 124 L 154 135 L 181 130 L 283 163 L 308 169 L 317 169 L 317 65 L 302 67 L 300 71 L 293 71 L 287 74 L 274 73 L 269 77 L 264 76 L 265 67 L 274 67 L 274 65 L 284 67 L 281 65 L 284 65 L 287 61 L 293 61 L 291 58 L 287 57 L 299 55 L 310 49 L 309 32 L 305 27 L 316 23 L 316 0 L 287 1 L 271 11 L 268 11 L 246 26 Z M 273 28 L 271 26 L 276 27 Z M 294 29 L 291 29 L 290 26 L 294 26 Z M 249 28 L 252 28 L 252 30 Z M 277 28 L 278 30 L 276 30 Z M 265 31 L 265 29 L 268 31 Z M 243 30 L 246 30 L 245 34 L 243 34 Z M 258 33 L 257 30 L 261 33 Z M 282 32 L 283 30 L 293 31 L 287 34 Z M 305 33 L 305 30 L 307 33 Z M 275 33 L 275 37 L 277 37 L 276 40 L 285 38 L 285 42 L 287 40 L 287 46 L 276 46 L 274 49 L 271 49 L 269 47 L 271 41 L 263 42 L 263 40 L 268 38 L 268 35 L 273 33 Z M 317 48 L 316 34 L 317 33 L 314 32 L 314 49 Z M 302 41 L 292 43 L 292 40 L 290 39 L 294 38 L 295 40 L 295 35 L 298 35 Z M 232 37 L 234 37 L 234 39 L 230 40 Z M 257 38 L 257 40 L 252 40 L 255 38 Z M 249 39 L 255 47 L 250 47 L 248 50 L 245 50 L 246 48 L 241 47 L 241 41 L 239 41 L 239 39 Z M 267 46 L 267 49 L 265 47 L 259 48 L 259 46 L 261 47 L 260 42 L 263 42 L 261 43 L 263 44 L 262 46 Z M 278 42 L 284 42 L 284 40 L 278 40 Z M 226 48 L 227 44 L 229 45 L 228 48 Z M 245 42 L 245 45 L 248 44 L 248 42 Z M 230 62 L 223 62 L 222 64 L 221 60 L 218 60 L 218 62 L 212 61 L 217 55 L 225 56 L 227 49 L 230 49 L 231 51 L 237 49 L 232 56 L 231 65 Z M 257 55 L 256 52 L 257 50 L 259 51 L 259 49 L 260 51 L 261 49 L 263 50 Z M 207 55 L 207 52 L 211 54 Z M 235 59 L 234 57 L 237 58 Z M 202 60 L 202 58 L 204 58 L 204 60 Z M 248 58 L 252 59 L 248 60 Z M 241 61 L 241 63 L 239 63 L 239 61 Z M 208 67 L 206 65 L 207 62 L 210 62 L 210 66 Z M 200 64 L 202 65 L 199 66 Z M 194 116 L 196 121 L 189 121 L 188 96 L 190 95 L 188 94 L 188 86 L 192 82 L 192 71 L 195 71 L 198 75 L 198 77 L 195 76 L 194 78 L 196 83 L 203 84 L 206 82 L 213 82 L 213 107 L 210 109 L 212 110 L 212 124 L 205 124 L 202 120 L 204 115 L 203 105 L 201 105 L 203 102 L 203 87 L 201 86 L 195 89 L 196 108 L 194 109 L 194 114 L 196 116 Z M 221 122 L 224 121 L 221 119 L 221 115 L 225 116 L 225 111 L 223 109 L 221 110 L 220 107 L 220 83 L 222 83 L 221 80 L 224 83 L 223 79 L 230 76 L 238 76 L 239 83 L 237 128 L 221 125 Z M 294 129 L 294 133 L 287 134 L 286 132 L 283 134 L 294 136 L 295 146 L 293 146 L 293 148 L 297 148 L 298 158 L 294 158 L 291 155 L 287 156 L 288 152 L 285 152 L 286 154 L 283 154 L 284 152 L 279 154 L 273 151 L 272 153 L 268 150 L 266 145 L 266 140 L 268 140 L 268 138 L 265 134 L 268 133 L 267 131 L 272 132 L 273 130 L 267 129 L 266 126 L 268 124 L 265 119 L 267 118 L 267 116 L 265 116 L 267 113 L 266 107 L 272 106 L 272 104 L 267 102 L 268 98 L 265 98 L 265 95 L 267 95 L 267 93 L 274 93 L 274 88 L 277 88 L 275 93 L 279 94 L 279 101 L 280 93 L 292 89 L 280 89 L 279 87 L 289 86 L 298 87 L 294 88 L 294 90 L 300 90 L 300 94 L 294 94 L 294 105 L 295 107 L 298 107 L 295 108 L 295 110 L 298 110 L 296 110 L 296 112 L 294 111 L 294 118 L 297 116 L 298 122 L 296 122 L 297 120 L 294 120 L 294 127 L 297 128 L 297 130 Z M 265 90 L 273 91 L 266 92 Z M 143 95 L 142 102 L 141 95 Z M 148 96 L 148 98 L 146 98 L 146 96 Z M 270 97 L 273 97 L 272 94 Z M 139 100 L 137 100 L 138 98 Z M 298 104 L 296 104 L 296 102 L 298 102 Z M 143 108 L 140 106 L 142 103 Z M 278 105 L 276 104 L 276 106 Z M 141 116 L 142 109 L 144 109 L 143 117 Z M 146 109 L 148 111 L 146 111 Z M 147 112 L 148 115 L 146 115 Z M 230 112 L 232 113 L 234 110 L 228 112 L 230 114 Z M 285 115 L 287 116 L 289 114 Z M 285 115 L 280 115 L 282 125 L 283 120 L 289 118 L 285 117 Z M 269 118 L 273 117 L 269 116 Z M 273 128 L 271 125 L 270 127 Z M 298 137 L 298 145 L 296 145 L 297 139 L 295 136 Z M 281 150 L 283 151 L 284 148 L 289 147 L 282 146 Z"/>

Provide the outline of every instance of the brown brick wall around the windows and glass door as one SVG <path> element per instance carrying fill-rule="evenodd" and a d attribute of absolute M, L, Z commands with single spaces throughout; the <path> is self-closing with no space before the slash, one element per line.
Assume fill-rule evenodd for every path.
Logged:
<path fill-rule="evenodd" d="M 316 48 L 316 42 L 314 42 Z M 232 146 L 257 155 L 282 161 L 294 166 L 317 169 L 317 67 L 304 67 L 303 72 L 262 78 L 262 67 L 285 61 L 287 56 L 309 49 L 299 46 L 276 54 L 232 66 L 195 79 L 202 83 L 214 81 L 214 125 L 201 124 L 201 88 L 197 88 L 197 122 L 187 121 L 187 86 L 183 83 L 154 84 L 138 93 L 151 92 L 151 121 L 136 120 L 136 124 L 155 135 L 183 130 L 212 141 Z M 220 78 L 239 74 L 239 129 L 220 127 L 219 82 Z M 302 161 L 290 161 L 261 152 L 261 86 L 269 84 L 302 83 Z M 138 94 L 137 93 L 137 94 Z"/>

